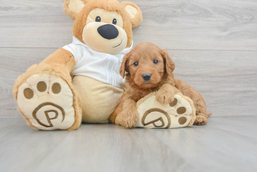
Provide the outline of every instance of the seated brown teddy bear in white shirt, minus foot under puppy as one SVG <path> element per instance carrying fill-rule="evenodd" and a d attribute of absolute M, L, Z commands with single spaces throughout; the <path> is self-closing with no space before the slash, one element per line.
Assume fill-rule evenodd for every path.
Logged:
<path fill-rule="evenodd" d="M 42 130 L 109 122 L 125 88 L 121 61 L 143 19 L 132 2 L 65 0 L 63 8 L 75 19 L 72 44 L 31 66 L 13 87 L 18 111 Z"/>

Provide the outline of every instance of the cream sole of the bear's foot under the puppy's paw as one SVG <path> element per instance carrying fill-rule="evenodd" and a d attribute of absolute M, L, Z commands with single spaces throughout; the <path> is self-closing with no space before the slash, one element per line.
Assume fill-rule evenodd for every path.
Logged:
<path fill-rule="evenodd" d="M 174 101 L 161 104 L 152 92 L 137 102 L 139 119 L 133 127 L 181 128 L 191 126 L 196 118 L 193 101 L 176 93 Z"/>

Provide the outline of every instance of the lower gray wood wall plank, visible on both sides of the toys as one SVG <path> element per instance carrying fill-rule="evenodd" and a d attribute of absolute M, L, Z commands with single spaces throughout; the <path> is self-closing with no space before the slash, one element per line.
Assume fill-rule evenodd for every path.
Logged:
<path fill-rule="evenodd" d="M 12 96 L 17 77 L 57 49 L 0 48 L 0 118 L 21 118 Z M 211 117 L 249 116 L 257 111 L 255 51 L 168 50 L 177 78 L 204 97 Z"/>

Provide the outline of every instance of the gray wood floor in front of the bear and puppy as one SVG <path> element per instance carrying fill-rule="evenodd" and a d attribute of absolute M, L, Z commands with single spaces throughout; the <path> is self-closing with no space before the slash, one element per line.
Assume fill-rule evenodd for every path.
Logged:
<path fill-rule="evenodd" d="M 257 170 L 256 121 L 217 117 L 179 129 L 82 124 L 75 131 L 37 131 L 23 119 L 0 119 L 0 166 L 6 172 L 251 172 Z"/>

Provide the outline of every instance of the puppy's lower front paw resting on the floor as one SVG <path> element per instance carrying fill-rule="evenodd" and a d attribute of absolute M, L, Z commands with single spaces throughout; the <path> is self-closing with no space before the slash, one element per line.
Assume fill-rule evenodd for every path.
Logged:
<path fill-rule="evenodd" d="M 136 124 L 138 121 L 138 112 L 137 110 L 130 109 L 128 111 L 123 111 L 122 112 L 122 120 L 121 120 L 121 125 L 125 127 L 133 127 L 133 125 Z"/>

